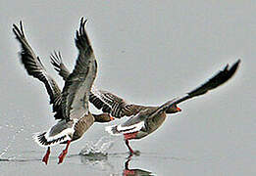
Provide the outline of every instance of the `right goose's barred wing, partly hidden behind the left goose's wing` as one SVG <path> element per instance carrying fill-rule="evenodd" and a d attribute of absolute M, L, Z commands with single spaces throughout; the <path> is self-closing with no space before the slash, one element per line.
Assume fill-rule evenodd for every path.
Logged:
<path fill-rule="evenodd" d="M 51 63 L 55 70 L 58 71 L 59 75 L 62 76 L 64 80 L 67 80 L 70 71 L 64 65 L 60 53 L 55 52 L 54 55 L 51 56 Z M 98 90 L 94 85 L 91 88 L 89 102 L 98 110 L 108 112 L 118 118 L 136 114 L 139 110 L 143 109 L 142 106 L 128 104 L 124 99 L 110 92 Z"/>

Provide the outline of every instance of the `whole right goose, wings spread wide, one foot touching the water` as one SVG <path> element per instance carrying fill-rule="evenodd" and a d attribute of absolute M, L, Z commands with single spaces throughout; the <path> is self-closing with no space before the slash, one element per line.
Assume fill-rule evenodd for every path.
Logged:
<path fill-rule="evenodd" d="M 59 75 L 64 80 L 70 74 L 68 68 L 64 65 L 60 53 L 51 56 L 51 63 L 54 68 L 59 72 Z M 158 129 L 164 120 L 167 113 L 176 113 L 181 111 L 177 105 L 193 97 L 201 96 L 208 91 L 217 88 L 234 74 L 239 66 L 240 60 L 235 62 L 232 66 L 225 66 L 215 76 L 210 78 L 207 82 L 187 93 L 179 99 L 174 99 L 167 102 L 160 107 L 148 107 L 135 104 L 128 104 L 124 99 L 104 90 L 98 90 L 92 85 L 89 95 L 89 101 L 97 109 L 108 112 L 114 117 L 131 116 L 126 122 L 120 125 L 108 126 L 106 131 L 112 135 L 121 135 L 125 137 L 125 142 L 128 147 L 129 153 L 133 154 L 132 149 L 128 144 L 128 140 L 141 139 L 146 137 L 156 129 Z"/>

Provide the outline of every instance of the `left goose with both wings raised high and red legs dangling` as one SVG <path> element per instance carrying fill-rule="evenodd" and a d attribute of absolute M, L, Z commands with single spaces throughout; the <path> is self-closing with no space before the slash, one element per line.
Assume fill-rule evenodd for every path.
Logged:
<path fill-rule="evenodd" d="M 88 100 L 92 83 L 97 72 L 97 62 L 91 44 L 85 31 L 86 21 L 81 18 L 75 43 L 78 50 L 76 66 L 67 76 L 65 86 L 61 91 L 55 80 L 46 72 L 39 57 L 36 57 L 28 44 L 23 23 L 20 28 L 13 24 L 13 32 L 21 43 L 21 61 L 29 75 L 44 83 L 50 97 L 57 123 L 48 131 L 35 136 L 35 141 L 47 152 L 42 161 L 48 163 L 50 147 L 57 144 L 67 144 L 66 149 L 59 155 L 59 163 L 63 162 L 71 142 L 77 141 L 84 132 L 97 122 L 108 122 L 113 118 L 107 114 L 91 114 L 88 110 Z"/>

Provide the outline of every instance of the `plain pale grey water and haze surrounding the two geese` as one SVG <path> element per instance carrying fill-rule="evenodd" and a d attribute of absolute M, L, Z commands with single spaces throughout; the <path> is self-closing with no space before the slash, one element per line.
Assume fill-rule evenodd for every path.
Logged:
<path fill-rule="evenodd" d="M 256 173 L 254 1 L 1 0 L 0 7 L 0 154 L 18 159 L 1 161 L 1 175 L 122 174 L 128 155 L 122 154 L 127 152 L 122 137 L 108 160 L 99 161 L 103 166 L 84 164 L 78 156 L 57 166 L 56 155 L 63 147 L 56 147 L 45 167 L 38 160 L 44 149 L 31 139 L 54 120 L 44 87 L 28 77 L 19 62 L 20 46 L 12 24 L 23 20 L 32 48 L 62 86 L 49 54 L 61 51 L 73 68 L 80 17 L 88 19 L 86 29 L 98 59 L 95 84 L 132 103 L 161 105 L 200 85 L 226 64 L 242 61 L 226 85 L 179 105 L 181 113 L 170 115 L 157 132 L 131 142 L 141 151 L 132 157 L 131 168 L 156 175 Z M 107 135 L 106 125 L 93 125 L 69 154 L 78 154 L 85 142 Z"/>

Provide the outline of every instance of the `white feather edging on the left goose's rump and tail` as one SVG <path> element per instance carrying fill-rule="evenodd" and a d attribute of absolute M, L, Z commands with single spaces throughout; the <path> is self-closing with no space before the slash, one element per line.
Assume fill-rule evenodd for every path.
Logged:
<path fill-rule="evenodd" d="M 77 122 L 77 121 L 76 121 Z M 67 128 L 65 130 L 63 130 L 61 133 L 55 135 L 55 136 L 49 136 L 49 133 L 51 131 L 51 128 L 44 134 L 44 137 L 45 139 L 50 142 L 50 141 L 53 141 L 53 140 L 56 140 L 58 138 L 61 138 L 63 136 L 65 136 L 65 138 L 63 140 L 60 140 L 58 141 L 57 143 L 54 143 L 54 144 L 50 144 L 50 145 L 42 145 L 40 142 L 39 142 L 39 139 L 38 139 L 38 136 L 40 134 L 42 134 L 43 132 L 37 132 L 37 133 L 34 133 L 33 134 L 33 140 L 35 141 L 35 143 L 37 143 L 40 147 L 43 147 L 43 148 L 47 148 L 47 147 L 51 147 L 51 146 L 56 146 L 57 144 L 60 144 L 62 142 L 65 142 L 65 141 L 70 141 L 72 140 L 70 135 L 73 135 L 74 132 L 75 132 L 75 125 L 76 125 L 76 122 L 73 124 L 73 126 L 71 128 Z"/>

